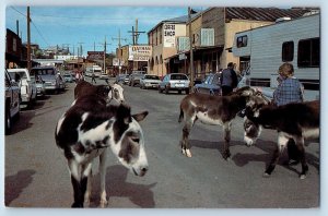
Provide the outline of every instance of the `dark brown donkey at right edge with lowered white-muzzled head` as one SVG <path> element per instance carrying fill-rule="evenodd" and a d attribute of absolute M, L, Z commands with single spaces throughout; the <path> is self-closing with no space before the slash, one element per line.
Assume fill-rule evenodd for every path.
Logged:
<path fill-rule="evenodd" d="M 305 159 L 304 139 L 316 139 L 319 136 L 319 100 L 314 100 L 292 103 L 280 107 L 268 105 L 257 108 L 248 107 L 246 109 L 244 141 L 247 146 L 255 144 L 260 136 L 261 128 L 278 131 L 277 148 L 263 177 L 270 177 L 289 140 L 293 139 L 302 164 L 300 178 L 306 178 L 308 166 Z"/>

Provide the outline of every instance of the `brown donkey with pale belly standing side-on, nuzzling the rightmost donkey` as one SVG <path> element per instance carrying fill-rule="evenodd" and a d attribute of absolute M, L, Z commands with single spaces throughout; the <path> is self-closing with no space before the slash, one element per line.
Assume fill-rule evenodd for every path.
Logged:
<path fill-rule="evenodd" d="M 199 119 L 204 124 L 222 125 L 224 130 L 223 158 L 229 159 L 232 121 L 242 111 L 247 103 L 255 103 L 261 94 L 251 87 L 243 87 L 229 96 L 210 96 L 201 93 L 192 93 L 180 103 L 178 122 L 184 119 L 181 152 L 191 157 L 188 136 L 195 122 Z M 253 98 L 253 100 L 250 100 Z"/>

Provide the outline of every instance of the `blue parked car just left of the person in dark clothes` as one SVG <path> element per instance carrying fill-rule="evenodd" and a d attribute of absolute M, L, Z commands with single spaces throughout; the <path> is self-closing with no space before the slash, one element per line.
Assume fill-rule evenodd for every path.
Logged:
<path fill-rule="evenodd" d="M 210 95 L 221 95 L 220 73 L 211 73 L 206 80 L 194 86 L 194 92 Z"/>

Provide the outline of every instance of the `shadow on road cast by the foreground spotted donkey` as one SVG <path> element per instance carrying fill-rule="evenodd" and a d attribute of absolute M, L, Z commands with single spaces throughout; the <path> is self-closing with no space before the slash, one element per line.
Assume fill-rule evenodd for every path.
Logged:
<path fill-rule="evenodd" d="M 128 197 L 132 203 L 140 207 L 152 208 L 155 206 L 154 194 L 151 189 L 156 184 L 137 184 L 127 182 L 129 170 L 121 165 L 116 165 L 107 168 L 106 172 L 106 192 L 108 206 L 110 206 L 110 197 Z M 142 177 L 136 177 L 142 178 Z M 91 207 L 99 205 L 101 194 L 99 175 L 94 176 L 92 182 Z"/>

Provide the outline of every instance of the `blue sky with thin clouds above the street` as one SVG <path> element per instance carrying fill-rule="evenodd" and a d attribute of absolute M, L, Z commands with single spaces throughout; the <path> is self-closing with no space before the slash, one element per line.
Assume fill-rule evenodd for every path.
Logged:
<path fill-rule="evenodd" d="M 201 9 L 201 8 L 197 8 Z M 206 8 L 203 8 L 206 9 Z M 163 20 L 187 15 L 187 7 L 31 7 L 31 43 L 42 48 L 49 46 L 70 47 L 70 51 L 82 45 L 83 53 L 104 50 L 107 52 L 121 45 L 132 44 L 132 26 L 140 33 L 138 44 L 148 44 L 148 32 Z M 16 33 L 16 21 L 22 41 L 27 41 L 27 7 L 9 5 L 5 9 L 5 27 Z"/>

